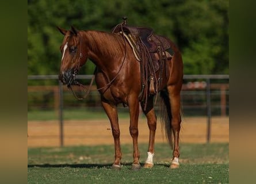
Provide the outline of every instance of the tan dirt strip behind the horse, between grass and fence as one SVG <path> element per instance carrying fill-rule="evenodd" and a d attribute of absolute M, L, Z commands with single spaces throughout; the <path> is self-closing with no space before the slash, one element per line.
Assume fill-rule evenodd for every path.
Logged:
<path fill-rule="evenodd" d="M 119 120 L 121 144 L 132 144 L 129 135 L 129 119 Z M 64 121 L 64 145 L 113 144 L 112 131 L 106 120 Z M 28 121 L 28 147 L 49 147 L 60 145 L 59 121 Z M 148 143 L 149 131 L 146 118 L 139 120 L 139 143 Z M 187 117 L 182 121 L 181 143 L 206 143 L 207 117 Z M 229 141 L 229 118 L 212 117 L 211 142 Z M 156 143 L 166 143 L 158 122 Z"/>

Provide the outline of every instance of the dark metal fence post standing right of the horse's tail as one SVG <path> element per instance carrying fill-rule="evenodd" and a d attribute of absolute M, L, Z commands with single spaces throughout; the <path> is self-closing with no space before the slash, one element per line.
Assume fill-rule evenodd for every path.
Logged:
<path fill-rule="evenodd" d="M 212 108 L 211 108 L 211 83 L 210 79 L 207 78 L 207 143 L 211 140 L 211 119 L 212 119 Z"/>

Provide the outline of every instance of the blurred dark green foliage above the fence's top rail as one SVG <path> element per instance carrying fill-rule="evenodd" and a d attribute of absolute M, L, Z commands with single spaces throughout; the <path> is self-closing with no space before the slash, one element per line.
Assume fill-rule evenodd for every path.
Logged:
<path fill-rule="evenodd" d="M 63 35 L 56 26 L 110 30 L 128 17 L 173 40 L 184 74 L 228 74 L 228 0 L 28 0 L 28 75 L 58 74 Z M 83 74 L 93 74 L 93 63 Z"/>

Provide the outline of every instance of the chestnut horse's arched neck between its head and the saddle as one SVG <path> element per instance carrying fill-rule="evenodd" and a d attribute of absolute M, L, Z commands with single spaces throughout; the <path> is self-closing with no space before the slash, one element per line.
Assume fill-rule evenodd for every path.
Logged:
<path fill-rule="evenodd" d="M 124 55 L 123 43 L 114 34 L 97 31 L 84 32 L 89 59 L 101 70 L 114 70 Z"/>

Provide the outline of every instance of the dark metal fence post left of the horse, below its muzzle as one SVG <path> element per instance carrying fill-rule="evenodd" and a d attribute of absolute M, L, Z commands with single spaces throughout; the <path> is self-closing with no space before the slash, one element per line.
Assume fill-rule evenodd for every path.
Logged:
<path fill-rule="evenodd" d="M 59 124 L 60 124 L 60 147 L 63 147 L 63 87 L 59 81 Z"/>

